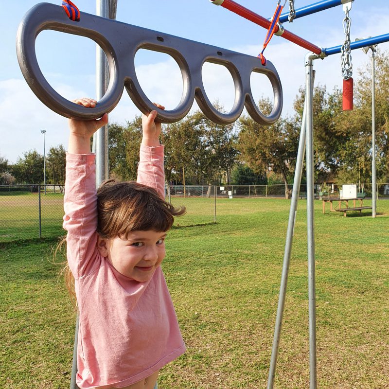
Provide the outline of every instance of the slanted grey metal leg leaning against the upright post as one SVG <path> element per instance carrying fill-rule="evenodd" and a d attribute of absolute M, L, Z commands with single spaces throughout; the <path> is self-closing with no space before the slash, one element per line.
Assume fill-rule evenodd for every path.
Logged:
<path fill-rule="evenodd" d="M 273 389 L 274 387 L 274 377 L 276 373 L 278 347 L 280 344 L 281 327 L 283 322 L 283 310 L 285 306 L 286 286 L 287 286 L 288 274 L 289 274 L 290 254 L 292 252 L 293 235 L 294 235 L 296 214 L 297 214 L 297 204 L 299 200 L 299 192 L 300 192 L 300 184 L 301 184 L 301 174 L 302 174 L 302 168 L 304 164 L 305 139 L 306 139 L 306 97 L 305 97 L 304 110 L 302 112 L 302 119 L 301 119 L 299 150 L 297 153 L 295 177 L 293 180 L 292 199 L 291 199 L 290 211 L 289 211 L 288 228 L 286 232 L 285 251 L 283 256 L 283 271 L 281 275 L 280 294 L 278 297 L 277 317 L 276 317 L 276 325 L 274 329 L 273 347 L 271 350 L 271 360 L 270 360 L 269 376 L 267 380 L 267 389 Z M 266 185 L 266 189 L 267 189 L 267 185 Z"/>

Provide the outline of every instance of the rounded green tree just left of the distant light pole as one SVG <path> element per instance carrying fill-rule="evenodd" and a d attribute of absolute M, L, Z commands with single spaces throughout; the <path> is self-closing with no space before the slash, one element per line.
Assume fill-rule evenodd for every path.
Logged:
<path fill-rule="evenodd" d="M 36 150 L 23 153 L 12 167 L 13 176 L 19 184 L 41 184 L 44 180 L 43 156 Z"/>

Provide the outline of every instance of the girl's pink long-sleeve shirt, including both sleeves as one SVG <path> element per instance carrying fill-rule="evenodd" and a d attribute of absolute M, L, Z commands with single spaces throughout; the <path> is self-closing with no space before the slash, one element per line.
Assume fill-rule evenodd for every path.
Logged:
<path fill-rule="evenodd" d="M 185 351 L 160 266 L 147 282 L 119 273 L 96 247 L 95 156 L 67 155 L 64 223 L 80 326 L 77 385 L 123 388 Z M 141 146 L 138 182 L 164 196 L 163 146 Z"/>

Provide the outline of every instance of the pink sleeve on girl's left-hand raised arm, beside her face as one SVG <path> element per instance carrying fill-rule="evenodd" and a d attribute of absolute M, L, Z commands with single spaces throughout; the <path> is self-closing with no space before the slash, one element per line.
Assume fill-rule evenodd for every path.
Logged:
<path fill-rule="evenodd" d="M 67 154 L 63 228 L 67 257 L 75 279 L 98 267 L 95 155 Z"/>

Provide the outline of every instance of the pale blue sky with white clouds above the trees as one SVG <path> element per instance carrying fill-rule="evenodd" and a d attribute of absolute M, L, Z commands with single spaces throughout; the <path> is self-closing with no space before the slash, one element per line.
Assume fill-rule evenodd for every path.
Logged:
<path fill-rule="evenodd" d="M 275 0 L 236 0 L 255 13 L 269 18 Z M 46 153 L 50 147 L 63 144 L 67 148 L 67 119 L 45 106 L 28 87 L 20 71 L 16 55 L 16 34 L 24 14 L 39 1 L 0 0 L 7 9 L 2 18 L 2 51 L 0 71 L 0 157 L 14 163 L 23 153 L 36 149 L 43 154 L 46 130 Z M 60 5 L 62 1 L 51 1 Z M 96 14 L 96 1 L 74 0 L 81 12 Z M 98 1 L 97 1 L 98 2 Z M 315 1 L 296 0 L 296 9 Z M 288 1 L 284 11 L 288 10 Z M 386 0 L 355 0 L 350 11 L 351 40 L 389 33 L 389 4 Z M 82 14 L 81 14 L 82 18 Z M 315 15 L 284 23 L 286 30 L 300 35 L 319 47 L 328 48 L 344 42 L 344 12 L 342 6 Z M 214 45 L 220 48 L 256 56 L 261 50 L 264 28 L 213 5 L 209 0 L 118 0 L 118 21 L 152 29 L 161 33 Z M 63 97 L 96 96 L 96 44 L 85 37 L 42 31 L 36 38 L 35 50 L 39 67 L 49 84 Z M 389 44 L 380 45 L 389 51 Z M 277 69 L 283 86 L 282 116 L 293 115 L 293 101 L 304 85 L 304 56 L 306 49 L 274 36 L 265 50 L 265 57 Z M 326 85 L 331 91 L 342 85 L 340 54 L 316 60 L 315 85 Z M 174 109 L 182 94 L 182 78 L 175 60 L 167 54 L 141 49 L 135 55 L 136 73 L 141 88 L 151 101 Z M 371 54 L 362 50 L 352 52 L 354 80 L 358 70 L 364 70 Z M 233 104 L 233 81 L 226 68 L 206 63 L 202 69 L 206 93 L 212 102 L 218 101 L 229 111 Z M 251 80 L 253 96 L 272 98 L 267 78 L 255 74 Z M 194 104 L 193 109 L 198 109 Z M 119 104 L 109 114 L 111 123 L 125 124 L 140 112 L 124 90 Z"/>

